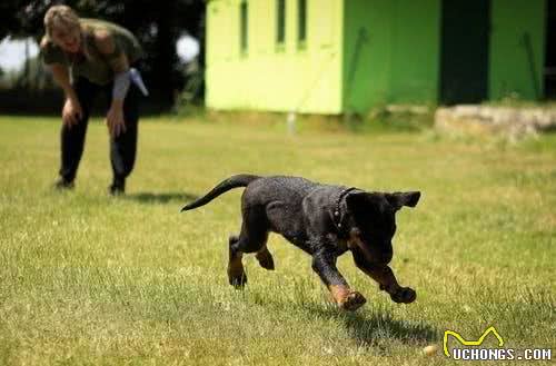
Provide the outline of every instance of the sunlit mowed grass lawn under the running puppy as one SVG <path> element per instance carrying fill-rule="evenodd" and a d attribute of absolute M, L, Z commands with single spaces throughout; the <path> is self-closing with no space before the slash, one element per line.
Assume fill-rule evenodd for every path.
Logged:
<path fill-rule="evenodd" d="M 435 365 L 448 362 L 444 330 L 477 339 L 490 325 L 507 347 L 555 346 L 554 135 L 288 137 L 278 125 L 143 119 L 128 194 L 112 198 L 99 120 L 76 189 L 51 189 L 59 123 L 0 118 L 0 365 Z M 235 290 L 227 238 L 241 190 L 179 210 L 239 172 L 420 190 L 397 215 L 391 263 L 417 301 L 391 303 L 346 254 L 338 266 L 368 303 L 339 311 L 310 257 L 278 236 L 276 271 L 248 256 L 249 284 Z M 440 350 L 424 356 L 430 344 Z"/>

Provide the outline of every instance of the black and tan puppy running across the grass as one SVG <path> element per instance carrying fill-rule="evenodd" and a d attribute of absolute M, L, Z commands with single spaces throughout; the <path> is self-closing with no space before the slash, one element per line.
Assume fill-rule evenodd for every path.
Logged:
<path fill-rule="evenodd" d="M 403 206 L 415 207 L 420 192 L 367 192 L 297 177 L 238 175 L 224 180 L 182 211 L 203 206 L 238 187 L 247 188 L 241 197 L 241 231 L 239 237 L 229 238 L 230 285 L 242 287 L 247 283 L 241 264 L 244 253 L 255 253 L 261 267 L 275 268 L 266 245 L 268 233 L 274 231 L 312 256 L 312 269 L 344 309 L 356 310 L 366 303 L 336 268 L 336 259 L 347 250 L 351 251 L 356 266 L 394 301 L 415 300 L 415 290 L 398 285 L 388 263 L 393 257 L 395 214 Z"/>

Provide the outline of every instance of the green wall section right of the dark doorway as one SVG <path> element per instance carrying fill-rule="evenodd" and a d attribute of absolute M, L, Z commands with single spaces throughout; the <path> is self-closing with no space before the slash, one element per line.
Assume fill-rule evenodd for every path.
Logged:
<path fill-rule="evenodd" d="M 543 96 L 546 2 L 493 0 L 492 4 L 489 99 L 516 93 L 535 100 Z M 532 56 L 525 34 L 529 34 Z"/>

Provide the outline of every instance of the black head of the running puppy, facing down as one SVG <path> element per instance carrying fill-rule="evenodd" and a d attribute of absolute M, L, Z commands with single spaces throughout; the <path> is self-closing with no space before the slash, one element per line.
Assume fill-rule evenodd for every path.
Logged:
<path fill-rule="evenodd" d="M 355 227 L 351 241 L 374 264 L 388 264 L 393 257 L 391 238 L 396 234 L 396 212 L 404 206 L 415 207 L 420 192 L 365 192 L 346 197 Z"/>

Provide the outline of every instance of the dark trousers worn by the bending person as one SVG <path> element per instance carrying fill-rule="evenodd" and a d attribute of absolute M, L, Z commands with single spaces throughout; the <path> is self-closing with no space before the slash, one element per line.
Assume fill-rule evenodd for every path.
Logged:
<path fill-rule="evenodd" d="M 112 85 L 98 86 L 85 78 L 73 83 L 77 98 L 83 110 L 82 118 L 71 127 L 62 125 L 61 130 L 61 167 L 60 176 L 66 181 L 76 179 L 77 168 L 83 154 L 85 136 L 93 100 L 99 93 L 105 93 L 108 100 L 112 98 Z M 115 181 L 123 181 L 133 169 L 137 152 L 137 123 L 139 121 L 139 93 L 137 87 L 129 86 L 123 100 L 123 120 L 126 132 L 110 137 L 110 162 Z"/>

